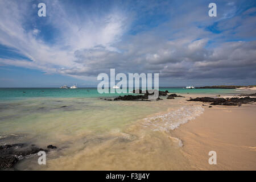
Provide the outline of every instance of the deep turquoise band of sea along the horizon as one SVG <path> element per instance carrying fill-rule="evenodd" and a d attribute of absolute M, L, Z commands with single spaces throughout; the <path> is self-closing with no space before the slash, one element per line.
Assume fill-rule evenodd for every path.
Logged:
<path fill-rule="evenodd" d="M 159 88 L 170 93 L 191 94 L 237 94 L 236 89 L 184 89 L 184 88 Z M 125 94 L 104 93 L 100 94 L 97 88 L 59 89 L 59 88 L 0 88 L 0 100 L 12 100 L 31 97 L 113 97 Z"/>

